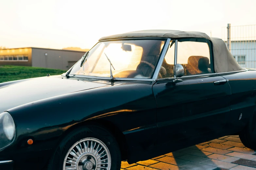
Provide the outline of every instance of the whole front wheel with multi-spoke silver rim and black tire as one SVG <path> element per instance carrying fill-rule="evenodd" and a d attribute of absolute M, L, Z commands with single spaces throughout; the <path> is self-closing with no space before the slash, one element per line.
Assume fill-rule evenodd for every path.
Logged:
<path fill-rule="evenodd" d="M 87 126 L 69 133 L 48 164 L 48 170 L 120 170 L 121 153 L 110 132 Z"/>

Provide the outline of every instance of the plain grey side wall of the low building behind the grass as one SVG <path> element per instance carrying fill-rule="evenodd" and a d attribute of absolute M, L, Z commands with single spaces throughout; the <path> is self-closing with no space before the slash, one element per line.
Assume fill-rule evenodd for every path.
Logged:
<path fill-rule="evenodd" d="M 83 51 L 32 48 L 32 66 L 68 70 L 84 53 Z"/>

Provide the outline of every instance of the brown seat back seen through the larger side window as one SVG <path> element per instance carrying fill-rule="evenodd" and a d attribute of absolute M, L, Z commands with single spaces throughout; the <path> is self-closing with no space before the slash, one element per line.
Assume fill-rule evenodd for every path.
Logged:
<path fill-rule="evenodd" d="M 186 66 L 186 75 L 207 74 L 211 72 L 209 69 L 210 60 L 204 56 L 190 56 Z"/>

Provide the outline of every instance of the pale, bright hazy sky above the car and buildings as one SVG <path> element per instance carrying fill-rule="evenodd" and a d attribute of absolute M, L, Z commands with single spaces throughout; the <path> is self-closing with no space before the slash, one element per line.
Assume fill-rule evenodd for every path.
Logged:
<path fill-rule="evenodd" d="M 91 49 L 137 30 L 199 31 L 256 24 L 256 0 L 0 0 L 0 46 Z"/>

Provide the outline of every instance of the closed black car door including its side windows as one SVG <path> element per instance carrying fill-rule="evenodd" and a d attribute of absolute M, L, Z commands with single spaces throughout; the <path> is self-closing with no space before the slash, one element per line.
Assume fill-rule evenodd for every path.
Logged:
<path fill-rule="evenodd" d="M 162 63 L 166 74 L 162 72 L 162 78 L 152 88 L 158 107 L 157 144 L 185 142 L 189 146 L 193 145 L 189 140 L 204 142 L 220 137 L 230 113 L 231 90 L 226 79 L 211 69 L 211 42 L 190 38 L 177 40 L 175 44 Z M 173 82 L 171 69 L 174 64 L 170 61 L 183 65 L 185 73 L 179 78 L 181 82 Z"/>

